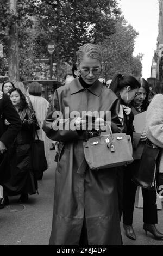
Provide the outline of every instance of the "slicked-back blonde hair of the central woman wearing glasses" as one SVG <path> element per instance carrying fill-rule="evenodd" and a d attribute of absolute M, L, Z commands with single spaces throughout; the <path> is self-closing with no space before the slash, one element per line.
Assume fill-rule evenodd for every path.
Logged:
<path fill-rule="evenodd" d="M 98 45 L 85 44 L 81 46 L 77 52 L 78 65 L 82 62 L 84 56 L 99 60 L 102 65 L 102 54 Z"/>

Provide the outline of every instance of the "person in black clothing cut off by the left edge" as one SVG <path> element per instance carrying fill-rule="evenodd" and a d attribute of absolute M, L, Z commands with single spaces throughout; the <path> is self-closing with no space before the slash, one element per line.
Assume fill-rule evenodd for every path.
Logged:
<path fill-rule="evenodd" d="M 5 128 L 5 120 L 9 123 Z M 21 119 L 7 94 L 0 92 L 0 184 L 5 174 L 8 154 L 5 153 L 21 129 Z M 0 205 L 0 209 L 4 208 Z"/>

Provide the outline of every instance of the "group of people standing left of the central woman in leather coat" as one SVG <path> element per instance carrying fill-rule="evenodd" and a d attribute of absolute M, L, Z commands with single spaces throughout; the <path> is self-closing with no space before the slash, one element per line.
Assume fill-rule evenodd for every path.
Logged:
<path fill-rule="evenodd" d="M 9 204 L 9 196 L 20 195 L 18 203 L 26 203 L 29 195 L 38 193 L 37 180 L 42 179 L 43 171 L 40 170 L 39 175 L 33 172 L 32 142 L 37 136 L 44 142 L 49 165 L 50 141 L 42 130 L 49 102 L 41 96 L 42 87 L 38 82 L 32 82 L 26 90 L 22 82 L 14 84 L 5 81 L 1 93 L 2 100 L 7 97 L 11 102 L 21 123 L 17 136 L 10 142 L 8 150 L 1 155 L 1 173 L 4 174 L 0 174 L 0 209 L 3 209 Z M 5 135 L 10 131 L 10 126 L 15 124 L 10 121 L 10 115 L 8 117 L 3 114 L 5 109 L 1 109 L 1 113 L 1 132 Z"/>

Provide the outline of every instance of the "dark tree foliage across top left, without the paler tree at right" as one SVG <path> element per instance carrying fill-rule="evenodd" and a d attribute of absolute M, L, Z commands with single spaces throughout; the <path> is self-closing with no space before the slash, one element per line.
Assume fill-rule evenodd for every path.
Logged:
<path fill-rule="evenodd" d="M 7 54 L 11 23 L 17 22 L 22 74 L 26 70 L 27 75 L 32 75 L 34 57 L 47 57 L 50 42 L 57 45 L 55 62 L 59 64 L 63 59 L 73 63 L 80 45 L 98 43 L 114 33 L 120 13 L 117 0 L 17 0 L 15 15 L 9 11 L 8 1 L 0 0 L 4 52 Z M 31 65 L 27 65 L 28 59 Z"/>

